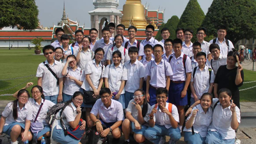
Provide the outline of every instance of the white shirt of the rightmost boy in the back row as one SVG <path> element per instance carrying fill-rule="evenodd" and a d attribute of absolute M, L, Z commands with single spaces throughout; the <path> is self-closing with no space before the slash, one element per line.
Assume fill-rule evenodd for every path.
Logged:
<path fill-rule="evenodd" d="M 232 49 L 234 49 L 233 43 L 232 43 L 230 40 L 228 40 L 228 45 L 229 45 L 229 47 L 228 47 L 228 45 L 226 44 L 226 40 L 227 40 L 227 39 L 224 38 L 223 42 L 221 43 L 221 42 L 219 41 L 219 39 L 216 38 L 216 43 L 215 43 L 215 44 L 218 44 L 218 45 L 219 45 L 219 47 L 220 47 L 220 54 L 222 54 L 223 56 L 227 56 L 227 55 L 228 55 L 228 52 L 229 52 L 229 51 L 232 51 Z M 213 43 L 213 40 L 210 40 L 209 43 L 212 44 L 212 43 Z"/>

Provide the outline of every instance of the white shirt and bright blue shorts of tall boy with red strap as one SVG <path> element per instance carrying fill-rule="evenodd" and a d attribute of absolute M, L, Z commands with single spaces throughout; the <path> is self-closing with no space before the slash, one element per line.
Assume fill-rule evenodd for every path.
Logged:
<path fill-rule="evenodd" d="M 170 65 L 172 67 L 173 76 L 170 77 L 171 83 L 169 88 L 168 100 L 172 104 L 177 104 L 177 106 L 186 106 L 188 104 L 187 95 L 181 98 L 180 93 L 184 89 L 186 83 L 186 74 L 192 71 L 191 68 L 191 60 L 190 58 L 186 58 L 185 68 L 183 66 L 183 56 L 184 53 L 181 52 L 180 56 L 176 58 L 175 54 L 173 54 L 172 60 L 170 61 Z"/>

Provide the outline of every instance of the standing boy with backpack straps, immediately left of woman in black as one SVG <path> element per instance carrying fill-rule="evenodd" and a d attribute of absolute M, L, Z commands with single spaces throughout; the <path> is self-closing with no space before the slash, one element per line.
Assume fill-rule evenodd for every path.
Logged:
<path fill-rule="evenodd" d="M 215 76 L 214 71 L 205 65 L 206 60 L 205 52 L 196 54 L 198 66 L 193 68 L 190 81 L 191 105 L 200 100 L 203 93 L 212 93 Z"/>

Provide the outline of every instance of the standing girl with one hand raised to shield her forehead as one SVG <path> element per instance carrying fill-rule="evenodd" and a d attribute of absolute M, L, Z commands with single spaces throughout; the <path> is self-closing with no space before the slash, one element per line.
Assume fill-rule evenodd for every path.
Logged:
<path fill-rule="evenodd" d="M 63 87 L 63 102 L 72 99 L 72 95 L 80 90 L 84 81 L 84 71 L 77 67 L 76 56 L 73 54 L 67 57 L 67 63 L 62 70 L 62 76 L 65 77 Z"/>

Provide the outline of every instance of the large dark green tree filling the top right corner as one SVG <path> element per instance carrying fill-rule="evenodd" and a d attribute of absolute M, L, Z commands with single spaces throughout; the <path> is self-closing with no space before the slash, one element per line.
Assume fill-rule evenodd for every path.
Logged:
<path fill-rule="evenodd" d="M 214 0 L 205 16 L 202 26 L 208 35 L 217 36 L 217 28 L 227 26 L 229 40 L 236 44 L 243 38 L 254 38 L 256 34 L 255 0 Z"/>

